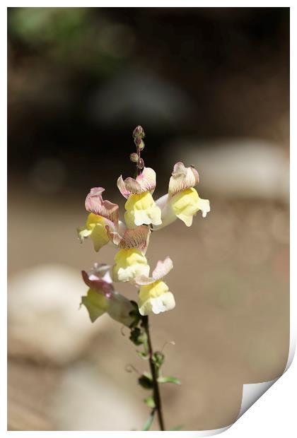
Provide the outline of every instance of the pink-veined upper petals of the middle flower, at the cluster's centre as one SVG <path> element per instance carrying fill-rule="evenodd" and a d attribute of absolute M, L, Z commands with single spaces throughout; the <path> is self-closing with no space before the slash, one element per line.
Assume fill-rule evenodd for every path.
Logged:
<path fill-rule="evenodd" d="M 121 249 L 136 248 L 143 254 L 146 254 L 149 237 L 151 235 L 151 230 L 146 225 L 141 225 L 133 229 L 127 228 L 122 235 L 120 235 L 117 230 L 110 230 L 108 225 L 106 226 L 106 230 L 110 240 Z"/>

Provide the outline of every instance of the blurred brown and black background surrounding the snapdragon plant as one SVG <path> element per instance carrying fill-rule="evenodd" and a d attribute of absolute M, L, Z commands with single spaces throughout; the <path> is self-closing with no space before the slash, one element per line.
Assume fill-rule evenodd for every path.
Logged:
<path fill-rule="evenodd" d="M 148 415 L 128 331 L 78 306 L 91 187 L 124 205 L 132 131 L 156 197 L 195 165 L 206 219 L 153 235 L 177 306 L 151 318 L 165 345 L 167 428 L 226 426 L 246 383 L 289 348 L 289 8 L 8 8 L 8 430 L 140 430 Z M 133 288 L 118 290 L 131 299 Z"/>

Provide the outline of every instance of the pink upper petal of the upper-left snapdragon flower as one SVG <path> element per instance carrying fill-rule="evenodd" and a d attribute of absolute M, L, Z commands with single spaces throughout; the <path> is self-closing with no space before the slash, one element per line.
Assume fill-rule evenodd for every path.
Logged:
<path fill-rule="evenodd" d="M 103 200 L 103 191 L 105 191 L 103 187 L 93 187 L 93 189 L 91 189 L 86 197 L 86 211 L 100 215 L 103 218 L 111 220 L 113 223 L 117 223 L 119 220 L 119 206 L 106 199 Z"/>

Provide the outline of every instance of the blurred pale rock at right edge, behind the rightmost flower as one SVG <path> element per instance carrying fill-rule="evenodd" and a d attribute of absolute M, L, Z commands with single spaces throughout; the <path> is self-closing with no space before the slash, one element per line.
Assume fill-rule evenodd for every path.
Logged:
<path fill-rule="evenodd" d="M 170 153 L 169 153 L 170 151 Z M 279 146 L 253 138 L 224 141 L 177 141 L 168 158 L 194 165 L 201 186 L 221 196 L 289 202 L 289 157 Z"/>

